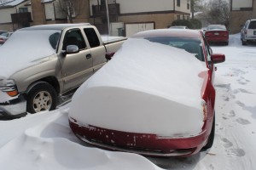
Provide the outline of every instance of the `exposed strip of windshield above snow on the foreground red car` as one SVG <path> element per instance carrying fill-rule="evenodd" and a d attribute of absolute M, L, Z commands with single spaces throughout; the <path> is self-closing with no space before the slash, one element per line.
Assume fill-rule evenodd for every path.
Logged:
<path fill-rule="evenodd" d="M 182 48 L 201 61 L 204 61 L 204 56 L 201 48 L 201 41 L 189 37 L 144 37 L 150 42 L 159 42 L 161 44 L 170 45 L 175 48 Z"/>

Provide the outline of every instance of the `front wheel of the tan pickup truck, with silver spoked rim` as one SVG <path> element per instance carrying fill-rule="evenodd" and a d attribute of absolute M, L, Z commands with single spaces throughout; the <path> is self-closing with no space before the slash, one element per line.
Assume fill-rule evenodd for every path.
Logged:
<path fill-rule="evenodd" d="M 48 82 L 36 83 L 27 94 L 26 111 L 37 113 L 39 111 L 55 110 L 57 94 Z"/>

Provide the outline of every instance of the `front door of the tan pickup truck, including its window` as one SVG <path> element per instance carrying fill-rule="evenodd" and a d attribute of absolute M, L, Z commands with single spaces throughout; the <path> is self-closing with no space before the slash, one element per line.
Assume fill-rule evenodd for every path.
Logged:
<path fill-rule="evenodd" d="M 72 29 L 66 32 L 62 44 L 62 50 L 66 51 L 67 45 L 77 45 L 79 53 L 66 54 L 61 57 L 61 70 L 63 90 L 77 88 L 93 74 L 92 57 L 88 45 L 80 29 Z"/>

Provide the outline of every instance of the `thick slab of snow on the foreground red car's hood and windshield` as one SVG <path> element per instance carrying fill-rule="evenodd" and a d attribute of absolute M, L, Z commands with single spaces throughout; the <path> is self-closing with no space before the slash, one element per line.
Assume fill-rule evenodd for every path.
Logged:
<path fill-rule="evenodd" d="M 69 116 L 131 133 L 196 135 L 203 125 L 201 71 L 205 63 L 183 49 L 130 38 L 73 95 Z"/>

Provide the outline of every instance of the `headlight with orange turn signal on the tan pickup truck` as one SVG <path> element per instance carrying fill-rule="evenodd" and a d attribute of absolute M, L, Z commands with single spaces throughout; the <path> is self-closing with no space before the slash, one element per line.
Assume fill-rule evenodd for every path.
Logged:
<path fill-rule="evenodd" d="M 0 80 L 0 90 L 2 92 L 5 92 L 11 97 L 14 97 L 18 94 L 18 90 L 16 88 L 16 84 L 14 80 L 6 80 L 2 79 Z"/>

